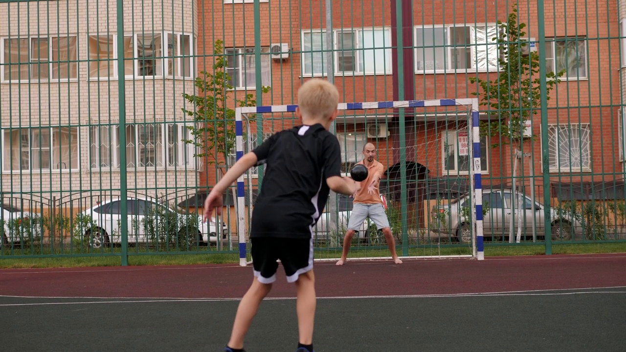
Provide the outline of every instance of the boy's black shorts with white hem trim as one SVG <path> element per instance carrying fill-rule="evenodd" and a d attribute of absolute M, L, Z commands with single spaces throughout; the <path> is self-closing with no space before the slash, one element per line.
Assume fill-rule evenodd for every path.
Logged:
<path fill-rule="evenodd" d="M 250 253 L 254 276 L 262 284 L 276 280 L 277 259 L 285 269 L 287 282 L 295 282 L 300 274 L 313 269 L 313 239 L 252 237 Z"/>

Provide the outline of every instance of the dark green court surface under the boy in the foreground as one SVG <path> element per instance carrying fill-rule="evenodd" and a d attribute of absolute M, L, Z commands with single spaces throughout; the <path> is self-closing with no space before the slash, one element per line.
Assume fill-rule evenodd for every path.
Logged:
<path fill-rule="evenodd" d="M 0 298 L 4 352 L 221 351 L 239 301 Z M 626 287 L 327 298 L 317 352 L 625 351 Z M 248 352 L 293 352 L 294 299 L 262 303 Z"/>

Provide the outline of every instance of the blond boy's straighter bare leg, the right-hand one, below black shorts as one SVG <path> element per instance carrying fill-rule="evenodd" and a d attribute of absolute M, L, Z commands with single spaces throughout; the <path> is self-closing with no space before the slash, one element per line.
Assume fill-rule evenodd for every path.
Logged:
<path fill-rule="evenodd" d="M 297 289 L 296 311 L 298 314 L 298 331 L 301 344 L 313 343 L 313 326 L 315 321 L 316 292 L 313 271 L 300 274 L 295 281 Z"/>

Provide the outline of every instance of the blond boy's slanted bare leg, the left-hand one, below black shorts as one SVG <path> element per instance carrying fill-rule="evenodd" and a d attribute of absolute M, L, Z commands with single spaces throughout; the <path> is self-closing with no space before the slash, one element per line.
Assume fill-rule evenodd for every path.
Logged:
<path fill-rule="evenodd" d="M 267 296 L 272 289 L 272 284 L 262 284 L 255 277 L 252 281 L 252 286 L 245 292 L 244 298 L 239 303 L 237 308 L 237 315 L 235 316 L 235 323 L 233 323 L 233 331 L 230 334 L 230 341 L 228 341 L 228 347 L 230 348 L 244 348 L 244 337 L 250 328 L 252 319 L 259 310 L 261 301 Z"/>

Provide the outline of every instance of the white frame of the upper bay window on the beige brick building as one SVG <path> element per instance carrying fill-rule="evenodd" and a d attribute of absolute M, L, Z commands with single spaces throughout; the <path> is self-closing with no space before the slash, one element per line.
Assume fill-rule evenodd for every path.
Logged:
<path fill-rule="evenodd" d="M 190 44 L 190 52 L 191 52 L 191 59 L 190 60 L 190 65 L 191 65 L 191 76 L 178 76 L 178 75 L 168 75 L 168 65 L 169 65 L 169 61 L 168 61 L 168 57 L 167 57 L 167 45 L 168 45 L 168 34 L 174 34 L 179 36 L 179 40 L 178 40 L 178 46 L 180 48 L 180 36 L 190 36 L 190 40 L 192 41 L 192 43 Z M 162 62 L 161 65 L 161 72 L 157 73 L 156 75 L 153 76 L 140 76 L 138 75 L 139 73 L 139 61 L 141 59 L 137 58 L 137 54 L 139 51 L 139 48 L 137 46 L 137 36 L 149 36 L 149 35 L 160 35 L 161 36 L 161 56 L 163 56 L 163 58 L 160 59 L 155 59 L 155 60 L 159 60 Z M 106 80 L 117 80 L 119 75 L 118 75 L 118 35 L 117 34 L 113 34 L 113 33 L 88 33 L 86 36 L 87 39 L 87 45 L 86 45 L 86 57 L 89 58 L 90 56 L 90 49 L 89 49 L 89 37 L 90 36 L 113 36 L 113 76 L 89 76 L 90 72 L 89 69 L 87 70 L 87 75 L 88 75 L 88 80 L 90 81 L 106 81 Z M 180 31 L 154 31 L 154 32 L 146 32 L 146 33 L 125 33 L 124 34 L 124 38 L 133 38 L 133 74 L 132 75 L 125 75 L 125 79 L 127 80 L 153 80 L 153 79 L 162 79 L 162 78 L 168 78 L 168 79 L 175 79 L 175 80 L 188 80 L 188 79 L 193 79 L 196 76 L 196 58 L 195 58 L 195 50 L 197 48 L 197 43 L 196 43 L 196 36 L 195 34 L 191 33 L 191 32 L 180 32 Z M 174 56 L 179 56 L 178 54 L 175 54 Z M 106 60 L 106 59 L 105 59 Z M 91 61 L 90 61 L 91 62 Z M 178 65 L 182 65 L 182 58 L 173 58 L 173 62 L 178 62 Z M 174 73 L 176 73 L 176 70 L 173 71 Z"/>

